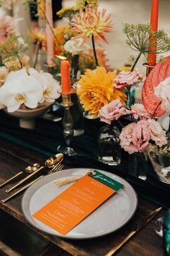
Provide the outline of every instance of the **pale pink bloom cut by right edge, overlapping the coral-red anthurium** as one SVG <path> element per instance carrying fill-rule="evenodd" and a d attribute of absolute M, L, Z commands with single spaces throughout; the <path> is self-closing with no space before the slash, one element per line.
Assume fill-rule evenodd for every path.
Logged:
<path fill-rule="evenodd" d="M 160 82 L 155 88 L 155 95 L 161 101 L 161 108 L 170 111 L 170 77 Z"/>

